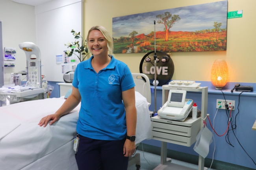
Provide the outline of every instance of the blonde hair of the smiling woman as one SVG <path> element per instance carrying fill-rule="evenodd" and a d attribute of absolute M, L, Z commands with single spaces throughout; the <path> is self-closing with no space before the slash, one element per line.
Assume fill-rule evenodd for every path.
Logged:
<path fill-rule="evenodd" d="M 100 31 L 102 33 L 102 35 L 106 38 L 109 55 L 112 55 L 112 52 L 113 52 L 113 39 L 112 39 L 112 37 L 110 36 L 108 30 L 105 27 L 103 27 L 103 26 L 91 27 L 91 29 L 88 31 L 88 34 L 87 34 L 87 38 L 86 38 L 87 42 L 88 42 L 89 34 L 93 30 Z"/>

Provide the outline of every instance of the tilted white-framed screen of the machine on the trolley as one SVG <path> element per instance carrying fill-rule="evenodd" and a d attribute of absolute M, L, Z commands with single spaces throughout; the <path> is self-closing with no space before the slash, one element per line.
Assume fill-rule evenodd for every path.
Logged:
<path fill-rule="evenodd" d="M 169 90 L 168 106 L 184 107 L 187 91 L 185 90 Z"/>

